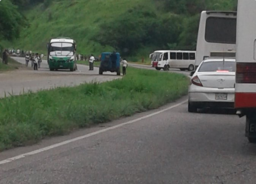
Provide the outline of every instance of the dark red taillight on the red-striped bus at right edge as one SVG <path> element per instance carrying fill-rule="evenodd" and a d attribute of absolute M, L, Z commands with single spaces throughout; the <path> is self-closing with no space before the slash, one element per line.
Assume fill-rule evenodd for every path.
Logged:
<path fill-rule="evenodd" d="M 237 63 L 236 83 L 256 83 L 256 63 Z"/>

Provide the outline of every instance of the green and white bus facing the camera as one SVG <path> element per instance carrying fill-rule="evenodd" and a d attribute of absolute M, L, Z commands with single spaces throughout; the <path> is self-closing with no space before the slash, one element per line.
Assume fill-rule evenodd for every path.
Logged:
<path fill-rule="evenodd" d="M 51 39 L 47 48 L 47 62 L 51 71 L 58 69 L 76 71 L 76 41 L 70 38 L 55 38 Z"/>

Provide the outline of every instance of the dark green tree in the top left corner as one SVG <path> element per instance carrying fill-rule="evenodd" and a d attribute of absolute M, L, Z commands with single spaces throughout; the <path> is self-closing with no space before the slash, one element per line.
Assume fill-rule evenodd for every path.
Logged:
<path fill-rule="evenodd" d="M 0 39 L 11 41 L 18 38 L 20 29 L 25 25 L 25 18 L 10 0 L 0 3 Z"/>

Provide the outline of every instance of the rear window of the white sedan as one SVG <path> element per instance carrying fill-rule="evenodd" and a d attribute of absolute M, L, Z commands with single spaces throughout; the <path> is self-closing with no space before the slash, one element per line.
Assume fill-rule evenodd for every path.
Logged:
<path fill-rule="evenodd" d="M 209 61 L 203 62 L 198 69 L 198 72 L 207 72 L 207 71 L 236 71 L 236 62 L 233 61 Z"/>

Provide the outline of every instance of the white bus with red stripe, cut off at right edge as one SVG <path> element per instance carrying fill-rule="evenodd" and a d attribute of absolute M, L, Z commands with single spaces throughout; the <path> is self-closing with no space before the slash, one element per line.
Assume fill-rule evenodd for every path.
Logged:
<path fill-rule="evenodd" d="M 256 1 L 239 0 L 237 7 L 237 47 L 235 108 L 246 115 L 245 136 L 256 143 Z"/>

